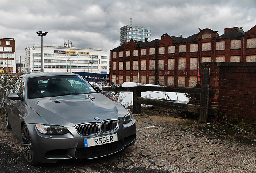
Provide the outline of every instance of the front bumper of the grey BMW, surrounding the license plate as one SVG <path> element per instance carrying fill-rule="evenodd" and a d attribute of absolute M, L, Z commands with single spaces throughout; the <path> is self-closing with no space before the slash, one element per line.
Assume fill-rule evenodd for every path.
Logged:
<path fill-rule="evenodd" d="M 136 139 L 134 117 L 126 125 L 119 120 L 118 129 L 97 135 L 79 135 L 75 127 L 68 127 L 70 133 L 65 135 L 45 135 L 39 133 L 35 124 L 28 124 L 29 134 L 35 154 L 35 159 L 41 163 L 56 163 L 60 159 L 93 159 L 121 151 L 124 147 L 133 145 Z M 84 147 L 84 139 L 117 133 L 118 141 Z"/>

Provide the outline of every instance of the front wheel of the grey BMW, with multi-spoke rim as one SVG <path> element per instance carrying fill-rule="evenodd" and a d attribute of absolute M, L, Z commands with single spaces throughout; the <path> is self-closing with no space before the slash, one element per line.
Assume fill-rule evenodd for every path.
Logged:
<path fill-rule="evenodd" d="M 37 165 L 33 151 L 33 145 L 29 136 L 29 129 L 26 125 L 23 125 L 21 129 L 21 149 L 22 153 L 29 165 Z"/>

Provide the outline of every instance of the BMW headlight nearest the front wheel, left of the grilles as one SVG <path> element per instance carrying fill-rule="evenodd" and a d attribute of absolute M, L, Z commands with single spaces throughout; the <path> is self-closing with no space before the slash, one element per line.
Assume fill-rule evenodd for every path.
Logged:
<path fill-rule="evenodd" d="M 63 135 L 66 133 L 69 133 L 68 129 L 63 126 L 55 126 L 55 125 L 42 125 L 42 124 L 36 124 L 37 130 L 40 133 L 43 134 L 49 134 L 49 135 Z"/>

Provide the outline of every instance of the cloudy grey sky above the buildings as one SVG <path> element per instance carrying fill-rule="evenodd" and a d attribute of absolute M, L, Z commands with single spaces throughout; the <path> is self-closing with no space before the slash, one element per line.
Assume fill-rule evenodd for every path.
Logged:
<path fill-rule="evenodd" d="M 36 32 L 48 32 L 44 46 L 78 48 L 120 46 L 120 27 L 151 28 L 151 40 L 168 33 L 186 38 L 198 28 L 224 33 L 224 28 L 256 25 L 256 0 L 0 0 L 0 37 L 16 40 L 16 58 L 25 48 L 41 45 Z"/>

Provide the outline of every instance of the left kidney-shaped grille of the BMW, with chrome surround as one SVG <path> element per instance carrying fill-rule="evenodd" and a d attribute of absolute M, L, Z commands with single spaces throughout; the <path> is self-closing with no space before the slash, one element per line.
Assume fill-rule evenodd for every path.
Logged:
<path fill-rule="evenodd" d="M 76 131 L 80 135 L 93 135 L 99 133 L 99 125 L 97 123 L 87 123 L 76 126 Z"/>

